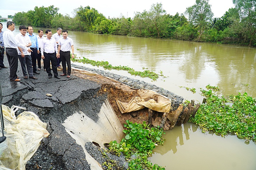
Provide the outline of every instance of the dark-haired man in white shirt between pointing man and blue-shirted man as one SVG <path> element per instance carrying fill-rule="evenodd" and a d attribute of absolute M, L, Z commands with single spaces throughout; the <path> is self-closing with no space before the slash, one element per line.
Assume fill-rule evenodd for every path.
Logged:
<path fill-rule="evenodd" d="M 22 43 L 23 45 L 25 45 L 26 47 L 30 47 L 31 46 L 31 40 L 28 37 L 28 35 L 26 34 L 26 26 L 21 25 L 19 27 L 20 33 L 17 34 L 15 36 L 15 38 Z M 18 47 L 17 48 L 18 51 L 18 57 L 20 60 L 20 65 L 21 65 L 21 69 L 23 72 L 23 76 L 24 79 L 28 79 L 28 75 L 29 75 L 29 79 L 38 79 L 36 77 L 33 76 L 33 69 L 32 69 L 32 60 L 31 60 L 31 55 L 29 52 L 27 52 L 26 50 L 23 50 L 22 48 Z M 27 71 L 26 71 L 26 65 L 27 65 L 27 70 L 28 70 L 28 75 L 27 75 Z"/>

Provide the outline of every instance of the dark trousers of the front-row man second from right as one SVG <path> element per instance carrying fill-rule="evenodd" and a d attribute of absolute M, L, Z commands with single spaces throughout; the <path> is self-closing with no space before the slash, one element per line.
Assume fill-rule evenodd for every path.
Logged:
<path fill-rule="evenodd" d="M 46 68 L 46 72 L 47 72 L 48 76 L 52 76 L 52 73 L 50 72 L 50 62 L 51 62 L 54 77 L 57 77 L 58 72 L 57 72 L 56 54 L 43 52 L 43 56 L 45 57 L 45 68 Z"/>

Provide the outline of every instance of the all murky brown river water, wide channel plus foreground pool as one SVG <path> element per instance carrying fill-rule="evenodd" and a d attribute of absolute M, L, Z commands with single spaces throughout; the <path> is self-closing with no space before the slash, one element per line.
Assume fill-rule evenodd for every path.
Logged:
<path fill-rule="evenodd" d="M 6 23 L 3 25 L 6 30 Z M 37 30 L 34 28 L 35 33 Z M 14 34 L 18 33 L 16 26 Z M 108 61 L 113 66 L 129 66 L 137 71 L 143 71 L 144 67 L 162 72 L 164 77 L 152 82 L 125 71 L 110 71 L 155 84 L 195 103 L 202 102 L 200 88 L 205 89 L 208 84 L 219 86 L 219 95 L 247 92 L 256 97 L 256 48 L 79 31 L 69 31 L 68 36 L 74 41 L 78 57 Z M 185 87 L 195 88 L 196 93 Z M 203 134 L 194 123 L 166 131 L 163 137 L 166 139 L 164 146 L 156 147 L 150 160 L 166 166 L 166 170 L 256 169 L 256 145 L 251 141 L 248 143 L 231 135 Z"/>

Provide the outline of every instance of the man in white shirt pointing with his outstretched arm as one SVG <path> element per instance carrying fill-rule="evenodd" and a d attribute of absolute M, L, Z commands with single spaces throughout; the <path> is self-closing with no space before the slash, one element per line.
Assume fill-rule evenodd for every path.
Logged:
<path fill-rule="evenodd" d="M 10 66 L 10 81 L 20 81 L 17 76 L 18 69 L 18 52 L 17 47 L 21 47 L 27 50 L 29 53 L 32 52 L 30 48 L 22 45 L 15 39 L 13 31 L 15 29 L 15 23 L 13 21 L 8 21 L 6 23 L 7 30 L 3 34 L 3 39 L 5 42 L 6 56 Z"/>

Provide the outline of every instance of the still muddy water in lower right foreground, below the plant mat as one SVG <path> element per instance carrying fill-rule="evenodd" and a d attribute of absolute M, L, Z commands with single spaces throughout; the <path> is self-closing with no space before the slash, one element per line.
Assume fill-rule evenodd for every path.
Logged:
<path fill-rule="evenodd" d="M 202 134 L 194 123 L 186 123 L 166 132 L 164 145 L 156 147 L 151 163 L 166 170 L 255 170 L 256 147 L 236 136 L 225 138 Z"/>

